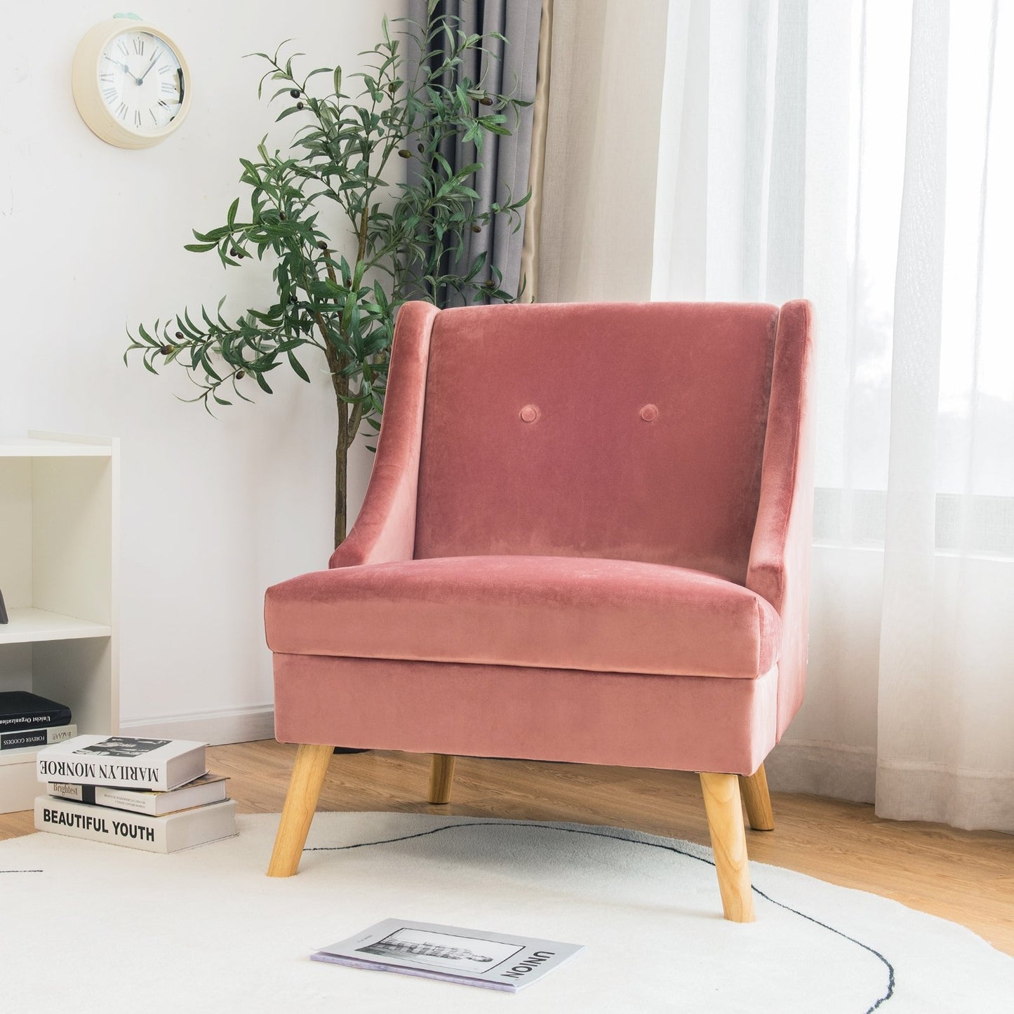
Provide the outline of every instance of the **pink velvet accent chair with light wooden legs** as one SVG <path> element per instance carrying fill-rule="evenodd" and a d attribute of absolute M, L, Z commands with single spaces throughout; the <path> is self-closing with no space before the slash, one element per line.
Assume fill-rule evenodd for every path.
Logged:
<path fill-rule="evenodd" d="M 296 872 L 333 744 L 701 774 L 728 919 L 741 799 L 803 696 L 810 308 L 406 304 L 362 511 L 268 589 L 299 743 L 269 873 Z"/>

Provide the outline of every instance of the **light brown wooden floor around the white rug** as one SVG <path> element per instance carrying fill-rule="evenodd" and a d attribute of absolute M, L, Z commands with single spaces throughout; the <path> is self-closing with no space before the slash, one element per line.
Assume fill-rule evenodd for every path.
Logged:
<path fill-rule="evenodd" d="M 295 747 L 268 740 L 208 752 L 241 811 L 281 809 Z M 320 808 L 574 820 L 708 842 L 695 775 L 463 757 L 445 806 L 425 801 L 428 778 L 427 755 L 339 755 Z M 895 898 L 1014 954 L 1014 837 L 880 820 L 871 806 L 811 796 L 773 799 L 775 830 L 747 830 L 751 859 Z M 31 829 L 30 813 L 0 815 L 0 839 Z"/>

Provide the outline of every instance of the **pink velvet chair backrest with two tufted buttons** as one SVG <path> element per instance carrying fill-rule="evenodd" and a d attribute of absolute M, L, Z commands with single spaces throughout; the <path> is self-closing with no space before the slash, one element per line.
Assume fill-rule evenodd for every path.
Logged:
<path fill-rule="evenodd" d="M 604 557 L 742 583 L 778 319 L 756 303 L 441 311 L 416 557 Z"/>

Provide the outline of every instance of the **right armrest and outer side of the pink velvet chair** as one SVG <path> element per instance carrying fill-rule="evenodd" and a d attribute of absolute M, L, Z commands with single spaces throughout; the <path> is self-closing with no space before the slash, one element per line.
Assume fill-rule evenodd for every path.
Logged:
<path fill-rule="evenodd" d="M 782 619 L 778 735 L 799 707 L 806 681 L 810 547 L 813 534 L 813 359 L 810 304 L 779 312 L 760 500 L 746 568 L 746 587 Z"/>

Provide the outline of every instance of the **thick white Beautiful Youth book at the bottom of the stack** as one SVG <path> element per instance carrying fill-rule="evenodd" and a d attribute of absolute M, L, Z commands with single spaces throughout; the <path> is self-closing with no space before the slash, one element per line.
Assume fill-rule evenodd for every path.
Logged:
<path fill-rule="evenodd" d="M 104 806 L 40 796 L 35 800 L 35 830 L 125 845 L 145 852 L 178 852 L 232 838 L 236 834 L 236 804 L 226 799 L 166 813 L 163 817 L 149 817 L 145 813 L 123 813 Z"/>

